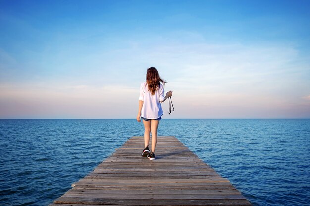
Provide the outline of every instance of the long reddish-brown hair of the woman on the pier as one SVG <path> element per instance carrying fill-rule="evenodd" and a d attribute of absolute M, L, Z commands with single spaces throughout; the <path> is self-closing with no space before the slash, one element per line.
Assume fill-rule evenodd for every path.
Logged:
<path fill-rule="evenodd" d="M 149 91 L 151 92 L 152 95 L 154 95 L 156 90 L 159 89 L 160 82 L 162 82 L 163 85 L 167 83 L 165 80 L 160 78 L 159 73 L 155 67 L 150 67 L 147 70 L 146 79 Z"/>

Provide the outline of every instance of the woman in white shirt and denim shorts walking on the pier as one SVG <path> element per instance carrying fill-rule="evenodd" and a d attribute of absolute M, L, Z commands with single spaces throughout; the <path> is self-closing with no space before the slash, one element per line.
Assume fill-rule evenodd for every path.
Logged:
<path fill-rule="evenodd" d="M 148 157 L 150 160 L 155 160 L 158 124 L 163 115 L 161 102 L 172 96 L 172 91 L 168 91 L 164 96 L 165 83 L 167 82 L 160 78 L 157 69 L 150 67 L 147 70 L 146 82 L 141 83 L 140 86 L 137 121 L 141 122 L 140 117 L 143 119 L 145 146 L 141 156 Z M 152 132 L 152 151 L 149 149 L 150 132 Z"/>

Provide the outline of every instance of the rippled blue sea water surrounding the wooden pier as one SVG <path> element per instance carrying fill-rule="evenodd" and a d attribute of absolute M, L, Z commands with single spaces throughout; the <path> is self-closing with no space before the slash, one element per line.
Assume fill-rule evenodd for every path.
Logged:
<path fill-rule="evenodd" d="M 0 120 L 0 205 L 52 203 L 131 136 L 134 119 Z M 310 119 L 162 119 L 255 206 L 308 206 Z"/>

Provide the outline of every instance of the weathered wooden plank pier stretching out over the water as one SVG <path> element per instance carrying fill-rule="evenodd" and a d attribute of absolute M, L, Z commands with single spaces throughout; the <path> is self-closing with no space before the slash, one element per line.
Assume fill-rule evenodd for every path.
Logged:
<path fill-rule="evenodd" d="M 175 137 L 158 137 L 154 161 L 143 148 L 130 138 L 49 206 L 252 206 Z"/>

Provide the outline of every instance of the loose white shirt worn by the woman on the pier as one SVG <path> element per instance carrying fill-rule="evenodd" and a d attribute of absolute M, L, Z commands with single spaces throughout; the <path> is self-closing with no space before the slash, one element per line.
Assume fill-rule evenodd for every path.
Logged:
<path fill-rule="evenodd" d="M 149 91 L 147 83 L 141 83 L 139 97 L 139 100 L 143 101 L 141 117 L 147 119 L 157 119 L 163 115 L 160 101 L 165 99 L 163 96 L 164 93 L 165 90 L 162 84 L 160 84 L 159 89 L 155 91 L 155 94 L 152 95 Z"/>

